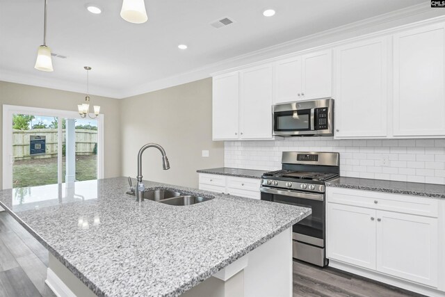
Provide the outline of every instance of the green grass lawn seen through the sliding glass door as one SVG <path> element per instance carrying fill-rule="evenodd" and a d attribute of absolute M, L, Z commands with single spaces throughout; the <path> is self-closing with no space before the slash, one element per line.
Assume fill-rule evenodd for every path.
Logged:
<path fill-rule="evenodd" d="M 65 157 L 63 157 L 63 182 L 65 182 Z M 97 155 L 76 156 L 76 180 L 97 179 Z M 57 157 L 15 161 L 13 188 L 57 184 Z"/>

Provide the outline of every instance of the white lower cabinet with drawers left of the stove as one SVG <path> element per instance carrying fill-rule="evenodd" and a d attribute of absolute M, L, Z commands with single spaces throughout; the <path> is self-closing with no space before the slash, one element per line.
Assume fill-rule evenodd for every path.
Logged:
<path fill-rule="evenodd" d="M 200 190 L 260 199 L 261 179 L 200 173 Z"/>

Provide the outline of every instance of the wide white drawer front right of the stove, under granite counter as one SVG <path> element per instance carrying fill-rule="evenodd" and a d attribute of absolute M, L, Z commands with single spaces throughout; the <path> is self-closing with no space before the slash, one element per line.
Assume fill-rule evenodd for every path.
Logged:
<path fill-rule="evenodd" d="M 327 187 L 327 202 L 437 218 L 437 200 L 412 195 Z"/>

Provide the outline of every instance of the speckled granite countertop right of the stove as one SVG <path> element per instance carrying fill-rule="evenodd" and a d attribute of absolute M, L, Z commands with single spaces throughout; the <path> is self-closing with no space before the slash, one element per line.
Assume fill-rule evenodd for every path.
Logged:
<path fill-rule="evenodd" d="M 416 195 L 430 198 L 445 198 L 445 185 L 443 184 L 423 184 L 417 182 L 395 182 L 382 179 L 338 177 L 337 179 L 332 179 L 329 182 L 326 182 L 326 186 L 357 188 L 359 190 Z"/>

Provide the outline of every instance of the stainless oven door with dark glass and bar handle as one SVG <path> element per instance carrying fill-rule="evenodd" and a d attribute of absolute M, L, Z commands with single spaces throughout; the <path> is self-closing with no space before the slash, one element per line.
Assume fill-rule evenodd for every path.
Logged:
<path fill-rule="evenodd" d="M 325 194 L 261 187 L 261 200 L 312 209 L 312 214 L 293 225 L 293 239 L 313 246 L 325 246 Z"/>

